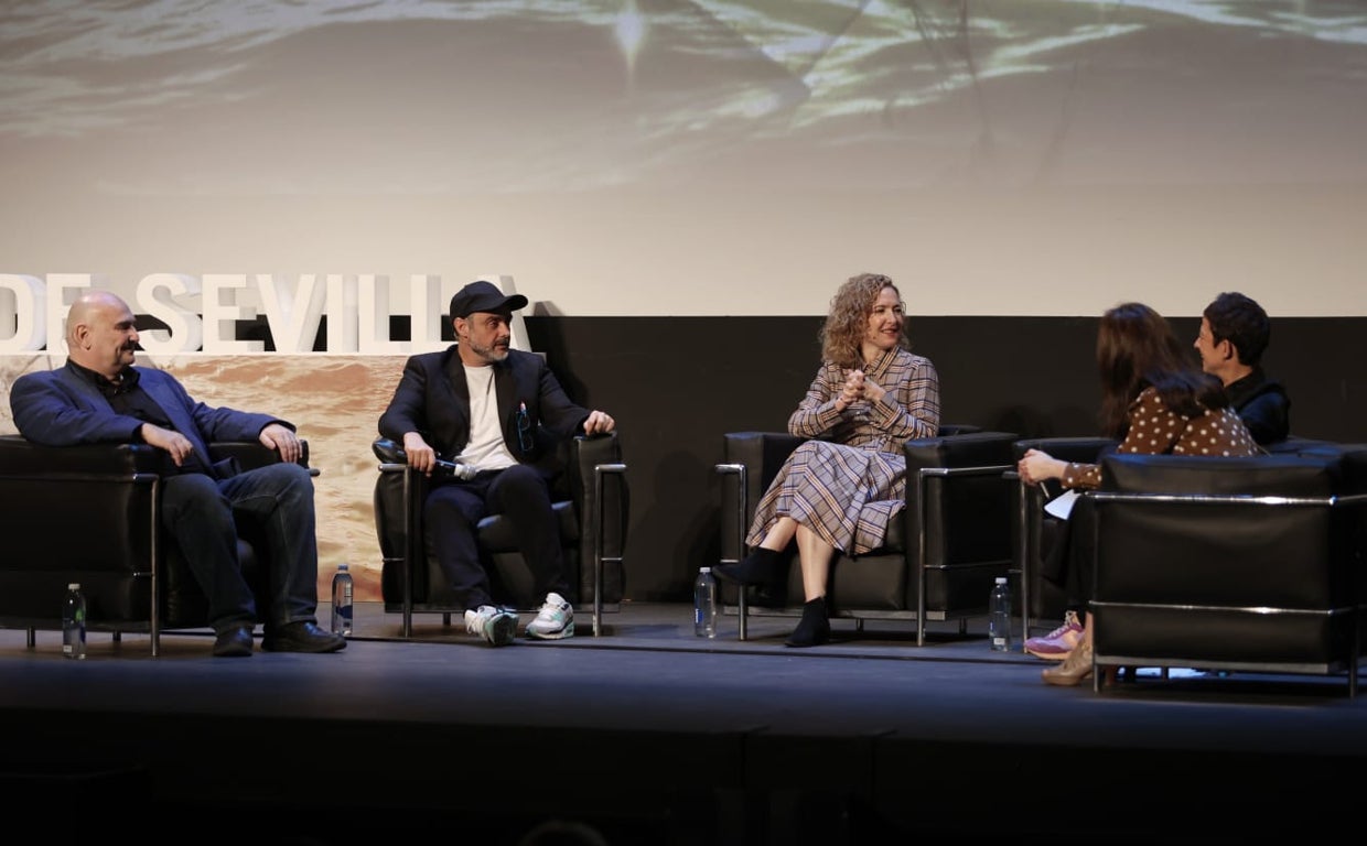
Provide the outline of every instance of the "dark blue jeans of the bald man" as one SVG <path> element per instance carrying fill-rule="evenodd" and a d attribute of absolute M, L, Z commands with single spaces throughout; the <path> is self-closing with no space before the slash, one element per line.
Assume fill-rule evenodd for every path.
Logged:
<path fill-rule="evenodd" d="M 269 585 L 261 614 L 238 560 L 238 525 L 249 522 L 265 538 L 265 549 L 257 549 Z M 258 619 L 267 631 L 317 622 L 319 545 L 308 469 L 282 462 L 224 480 L 172 476 L 161 492 L 161 523 L 209 599 L 216 633 Z"/>

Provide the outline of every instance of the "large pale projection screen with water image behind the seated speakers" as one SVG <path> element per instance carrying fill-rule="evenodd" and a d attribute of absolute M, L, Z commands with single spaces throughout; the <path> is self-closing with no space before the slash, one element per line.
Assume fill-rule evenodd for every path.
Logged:
<path fill-rule="evenodd" d="M 1021 275 L 1096 313 L 1106 256 L 1210 220 L 1362 249 L 1321 190 L 1367 182 L 1357 1 L 53 0 L 0 11 L 0 70 L 5 272 L 499 272 L 581 314 L 774 273 L 819 314 L 876 261 L 940 313 L 1042 308 Z M 968 298 L 982 245 L 1016 279 Z"/>

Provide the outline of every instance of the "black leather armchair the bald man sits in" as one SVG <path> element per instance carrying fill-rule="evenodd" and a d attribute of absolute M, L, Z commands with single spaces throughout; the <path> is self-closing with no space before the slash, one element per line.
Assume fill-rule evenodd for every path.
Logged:
<path fill-rule="evenodd" d="M 308 466 L 308 443 L 301 462 Z M 279 461 L 260 443 L 209 444 L 213 458 L 235 456 L 243 469 Z M 171 459 L 146 444 L 40 447 L 0 436 L 0 626 L 62 627 L 68 582 L 86 595 L 86 629 L 149 633 L 208 626 L 208 600 L 175 541 L 159 528 L 161 480 Z M 314 472 L 317 476 L 317 472 Z M 247 581 L 265 596 L 262 540 L 243 528 L 238 554 Z"/>

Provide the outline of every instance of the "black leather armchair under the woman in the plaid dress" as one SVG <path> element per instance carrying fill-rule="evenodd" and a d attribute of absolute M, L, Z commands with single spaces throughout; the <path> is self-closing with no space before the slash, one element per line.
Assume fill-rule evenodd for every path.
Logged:
<path fill-rule="evenodd" d="M 906 508 L 889 528 L 887 543 L 865 555 L 837 555 L 827 599 L 833 618 L 915 619 L 916 644 L 925 642 L 927 620 L 960 622 L 987 614 L 992 581 L 1010 564 L 1010 492 L 1003 477 L 1017 435 L 945 425 L 936 437 L 910 440 L 906 455 Z M 755 507 L 787 455 L 804 439 L 786 432 L 730 432 L 723 437 L 720 560 L 741 560 Z M 752 608 L 755 588 L 722 584 L 726 611 L 748 615 L 800 615 L 801 569 L 789 564 L 783 608 Z"/>

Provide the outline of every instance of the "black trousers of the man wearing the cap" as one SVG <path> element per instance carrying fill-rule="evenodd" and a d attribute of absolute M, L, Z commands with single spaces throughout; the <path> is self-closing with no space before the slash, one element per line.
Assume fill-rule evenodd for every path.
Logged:
<path fill-rule="evenodd" d="M 433 478 L 422 504 L 428 548 L 466 608 L 492 605 L 489 574 L 480 560 L 477 528 L 503 514 L 517 529 L 518 551 L 532 570 L 536 596 L 555 592 L 570 600 L 560 529 L 547 480 L 526 465 L 480 473 L 469 481 Z"/>

